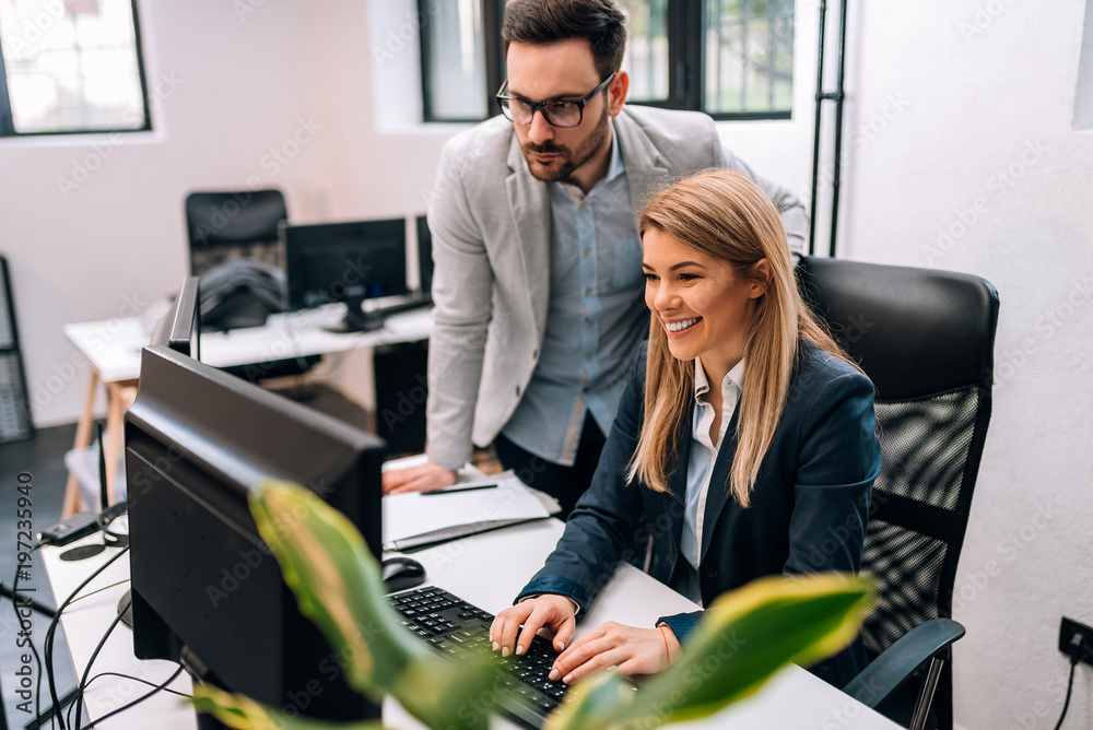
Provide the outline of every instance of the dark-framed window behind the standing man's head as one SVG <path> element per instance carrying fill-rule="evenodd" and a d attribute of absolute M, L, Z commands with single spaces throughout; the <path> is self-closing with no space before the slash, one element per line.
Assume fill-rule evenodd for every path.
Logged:
<path fill-rule="evenodd" d="M 419 0 L 425 121 L 497 113 L 505 1 Z M 616 1 L 630 17 L 630 103 L 715 119 L 789 118 L 794 0 Z"/>

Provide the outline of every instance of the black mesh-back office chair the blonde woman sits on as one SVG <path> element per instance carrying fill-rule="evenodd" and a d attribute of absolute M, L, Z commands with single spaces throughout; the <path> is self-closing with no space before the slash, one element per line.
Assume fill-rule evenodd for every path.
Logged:
<path fill-rule="evenodd" d="M 861 629 L 872 661 L 844 691 L 906 727 L 951 728 L 953 584 L 990 421 L 998 293 L 976 276 L 815 257 L 798 275 L 875 388 L 883 464 L 862 573 L 879 601 Z"/>

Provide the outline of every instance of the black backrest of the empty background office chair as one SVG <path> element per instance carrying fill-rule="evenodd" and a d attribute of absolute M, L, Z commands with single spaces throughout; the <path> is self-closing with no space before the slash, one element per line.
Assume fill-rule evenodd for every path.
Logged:
<path fill-rule="evenodd" d="M 281 267 L 278 223 L 287 217 L 280 190 L 191 192 L 186 198 L 190 273 L 199 276 L 238 258 Z"/>

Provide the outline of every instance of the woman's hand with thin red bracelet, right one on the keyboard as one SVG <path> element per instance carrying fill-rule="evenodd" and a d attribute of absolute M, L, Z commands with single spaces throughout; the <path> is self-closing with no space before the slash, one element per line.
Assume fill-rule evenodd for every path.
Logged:
<path fill-rule="evenodd" d="M 679 640 L 667 625 L 661 633 L 660 628 L 635 628 L 609 621 L 563 651 L 554 660 L 550 679 L 573 684 L 608 667 L 614 667 L 623 676 L 656 674 L 679 656 Z"/>

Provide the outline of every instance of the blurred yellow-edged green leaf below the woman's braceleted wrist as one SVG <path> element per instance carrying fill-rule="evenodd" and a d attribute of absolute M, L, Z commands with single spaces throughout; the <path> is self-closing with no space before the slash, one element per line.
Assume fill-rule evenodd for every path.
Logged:
<path fill-rule="evenodd" d="M 683 659 L 610 707 L 602 682 L 576 693 L 552 729 L 655 728 L 705 717 L 757 691 L 781 667 L 808 667 L 846 647 L 872 604 L 868 580 L 837 574 L 760 578 L 715 601 Z M 575 690 L 579 690 L 575 687 Z"/>

